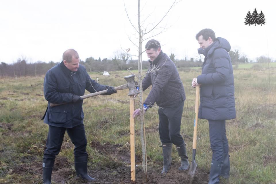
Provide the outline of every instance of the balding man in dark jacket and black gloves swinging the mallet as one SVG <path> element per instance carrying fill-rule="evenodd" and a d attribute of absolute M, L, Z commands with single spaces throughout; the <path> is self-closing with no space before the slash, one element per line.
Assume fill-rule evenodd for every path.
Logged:
<path fill-rule="evenodd" d="M 43 184 L 51 183 L 55 156 L 59 154 L 65 131 L 75 145 L 75 169 L 83 179 L 94 181 L 87 174 L 87 139 L 83 125 L 83 99 L 85 89 L 90 93 L 108 89 L 107 95 L 116 93 L 112 86 L 96 83 L 90 78 L 74 49 L 63 53 L 62 62 L 48 72 L 44 78 L 44 96 L 48 101 L 44 122 L 49 125 L 46 150 L 43 155 Z M 50 103 L 63 104 L 51 107 Z M 66 104 L 64 104 L 66 103 Z"/>

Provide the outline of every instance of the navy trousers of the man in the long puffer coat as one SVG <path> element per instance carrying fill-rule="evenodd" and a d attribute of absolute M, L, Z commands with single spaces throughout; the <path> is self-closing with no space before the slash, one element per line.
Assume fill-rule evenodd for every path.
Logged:
<path fill-rule="evenodd" d="M 229 152 L 225 120 L 208 120 L 212 160 L 223 161 L 223 154 Z"/>

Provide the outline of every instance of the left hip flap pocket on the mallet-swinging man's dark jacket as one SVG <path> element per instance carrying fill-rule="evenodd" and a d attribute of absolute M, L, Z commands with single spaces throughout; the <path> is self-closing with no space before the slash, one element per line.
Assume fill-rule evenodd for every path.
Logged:
<path fill-rule="evenodd" d="M 68 106 L 55 106 L 49 108 L 49 120 L 54 123 L 64 123 L 66 122 Z"/>

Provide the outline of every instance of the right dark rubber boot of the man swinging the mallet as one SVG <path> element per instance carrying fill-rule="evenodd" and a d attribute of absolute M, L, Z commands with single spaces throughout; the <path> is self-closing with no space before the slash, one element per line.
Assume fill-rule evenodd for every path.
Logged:
<path fill-rule="evenodd" d="M 97 181 L 95 178 L 90 177 L 87 174 L 87 158 L 88 155 L 75 156 L 75 169 L 78 176 L 89 181 Z"/>

